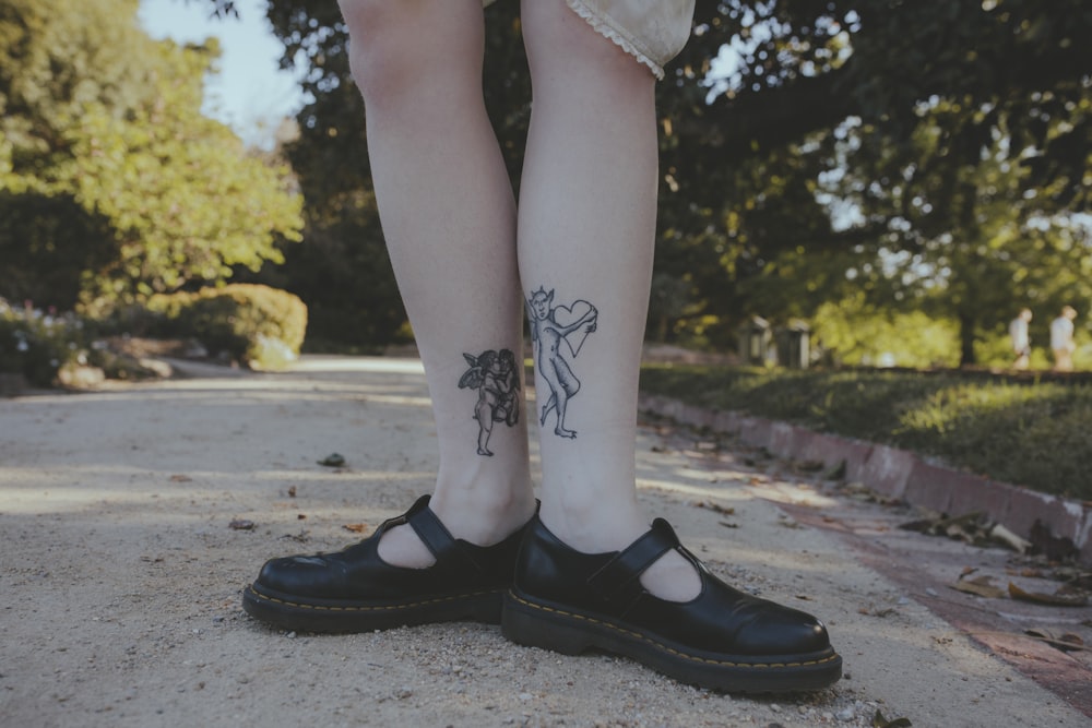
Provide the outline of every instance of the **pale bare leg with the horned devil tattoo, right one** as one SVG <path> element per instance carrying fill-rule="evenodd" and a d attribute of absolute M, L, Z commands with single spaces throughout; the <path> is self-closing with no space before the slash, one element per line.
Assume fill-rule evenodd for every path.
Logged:
<path fill-rule="evenodd" d="M 518 224 L 524 296 L 543 286 L 555 305 L 583 299 L 598 310 L 572 360 L 582 385 L 566 426 L 578 434 L 542 431 L 541 514 L 572 548 L 614 551 L 650 523 L 637 503 L 634 442 L 655 236 L 655 79 L 563 0 L 524 0 L 522 22 L 534 93 Z M 674 552 L 642 583 L 677 600 L 699 590 Z"/>

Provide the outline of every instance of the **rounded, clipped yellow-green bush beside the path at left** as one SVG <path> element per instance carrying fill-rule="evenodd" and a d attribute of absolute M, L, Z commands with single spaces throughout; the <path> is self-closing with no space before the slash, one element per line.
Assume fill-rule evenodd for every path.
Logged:
<path fill-rule="evenodd" d="M 299 355 L 307 306 L 285 290 L 232 284 L 153 296 L 147 309 L 159 320 L 153 333 L 195 337 L 210 350 L 256 369 L 280 369 Z"/>

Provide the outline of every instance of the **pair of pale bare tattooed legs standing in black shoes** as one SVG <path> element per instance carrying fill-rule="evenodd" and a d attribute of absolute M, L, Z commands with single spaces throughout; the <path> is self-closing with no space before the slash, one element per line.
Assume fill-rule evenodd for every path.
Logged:
<path fill-rule="evenodd" d="M 434 401 L 432 510 L 456 537 L 495 542 L 526 521 L 533 499 L 526 417 L 495 428 L 497 454 L 482 457 L 472 405 L 455 386 L 463 353 L 522 351 L 514 204 L 480 94 L 480 4 L 342 0 L 342 10 L 384 232 Z M 633 443 L 655 227 L 654 80 L 562 0 L 524 2 L 523 16 L 536 103 L 520 266 L 527 294 L 547 284 L 569 302 L 594 297 L 600 310 L 597 341 L 579 363 L 580 407 L 567 413 L 579 440 L 543 438 L 543 518 L 573 548 L 612 551 L 649 523 L 637 505 Z M 390 532 L 380 554 L 431 562 L 407 528 Z M 698 588 L 675 554 L 642 582 L 677 599 Z"/>

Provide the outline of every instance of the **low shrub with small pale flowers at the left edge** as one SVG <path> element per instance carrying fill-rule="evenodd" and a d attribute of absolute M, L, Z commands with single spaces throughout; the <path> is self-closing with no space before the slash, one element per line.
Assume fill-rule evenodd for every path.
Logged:
<path fill-rule="evenodd" d="M 61 367 L 84 356 L 83 338 L 83 324 L 71 314 L 14 308 L 0 298 L 0 372 L 50 386 Z"/>

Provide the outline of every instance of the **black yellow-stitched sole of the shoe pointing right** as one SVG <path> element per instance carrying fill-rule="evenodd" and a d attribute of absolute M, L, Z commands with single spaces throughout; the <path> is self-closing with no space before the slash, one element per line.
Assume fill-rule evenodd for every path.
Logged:
<path fill-rule="evenodd" d="M 811 655 L 733 656 L 696 651 L 613 621 L 560 606 L 505 595 L 501 633 L 512 642 L 565 655 L 598 649 L 629 657 L 679 682 L 733 693 L 812 691 L 842 677 L 842 658 L 826 649 Z"/>

